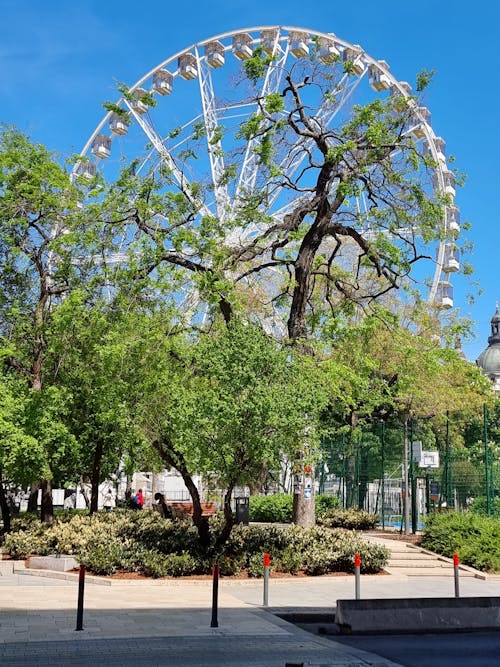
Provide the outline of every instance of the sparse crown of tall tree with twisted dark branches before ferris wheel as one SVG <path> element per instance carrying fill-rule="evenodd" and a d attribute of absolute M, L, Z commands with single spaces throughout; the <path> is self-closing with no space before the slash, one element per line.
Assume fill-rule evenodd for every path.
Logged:
<path fill-rule="evenodd" d="M 90 185 L 96 224 L 131 279 L 167 277 L 188 322 L 206 325 L 215 308 L 226 322 L 243 311 L 305 353 L 345 312 L 408 286 L 451 203 L 433 188 L 436 163 L 411 131 L 422 123 L 418 100 L 398 89 L 360 106 L 342 100 L 333 113 L 342 90 L 355 89 L 345 86 L 356 66 L 317 55 L 283 69 L 256 49 L 235 79 L 250 116 L 173 128 L 162 148 L 148 126 L 161 164 L 147 172 L 138 160 L 107 190 L 98 177 Z M 263 80 L 275 66 L 269 93 Z M 132 97 L 124 91 L 122 110 Z M 207 139 L 222 165 L 211 185 L 192 178 L 207 164 Z M 232 190 L 240 164 L 247 171 Z"/>

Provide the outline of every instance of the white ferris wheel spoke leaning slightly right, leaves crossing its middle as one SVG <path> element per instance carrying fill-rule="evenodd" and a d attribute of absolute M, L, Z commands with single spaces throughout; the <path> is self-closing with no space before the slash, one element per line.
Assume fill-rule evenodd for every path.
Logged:
<path fill-rule="evenodd" d="M 283 78 L 284 64 L 288 57 L 288 43 L 285 48 L 280 46 L 279 31 L 276 32 L 274 38 L 274 45 L 272 55 L 277 56 L 276 60 L 272 60 L 266 70 L 264 82 L 260 92 L 260 99 L 265 99 L 271 93 L 279 90 L 281 79 Z M 240 170 L 238 185 L 236 187 L 235 206 L 244 192 L 251 192 L 255 187 L 257 179 L 257 172 L 259 169 L 259 159 L 255 152 L 257 146 L 257 139 L 250 139 L 247 143 L 245 155 Z"/>

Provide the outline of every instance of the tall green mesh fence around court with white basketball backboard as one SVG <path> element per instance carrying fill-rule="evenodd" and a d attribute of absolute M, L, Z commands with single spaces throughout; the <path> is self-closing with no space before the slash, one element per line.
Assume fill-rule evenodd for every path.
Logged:
<path fill-rule="evenodd" d="M 438 426 L 379 422 L 326 440 L 320 492 L 401 530 L 447 509 L 500 516 L 500 411 L 465 424 L 446 415 Z"/>

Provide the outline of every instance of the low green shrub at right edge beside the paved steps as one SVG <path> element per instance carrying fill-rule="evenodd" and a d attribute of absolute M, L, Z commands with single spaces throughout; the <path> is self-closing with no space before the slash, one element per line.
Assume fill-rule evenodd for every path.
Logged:
<path fill-rule="evenodd" d="M 474 512 L 446 512 L 427 517 L 422 546 L 465 565 L 500 572 L 500 519 Z"/>

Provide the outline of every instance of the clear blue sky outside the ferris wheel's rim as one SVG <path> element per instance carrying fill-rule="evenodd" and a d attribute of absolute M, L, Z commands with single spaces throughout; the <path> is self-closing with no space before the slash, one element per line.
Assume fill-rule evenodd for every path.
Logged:
<path fill-rule="evenodd" d="M 500 8 L 492 0 L 2 0 L 0 121 L 62 156 L 79 152 L 115 99 L 116 81 L 133 84 L 175 52 L 218 33 L 259 25 L 333 32 L 386 60 L 399 80 L 435 68 L 425 103 L 448 155 L 467 175 L 456 203 L 474 242 L 474 305 L 455 283 L 455 305 L 476 322 L 469 359 L 486 345 L 500 299 L 498 190 Z"/>

